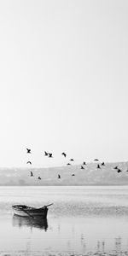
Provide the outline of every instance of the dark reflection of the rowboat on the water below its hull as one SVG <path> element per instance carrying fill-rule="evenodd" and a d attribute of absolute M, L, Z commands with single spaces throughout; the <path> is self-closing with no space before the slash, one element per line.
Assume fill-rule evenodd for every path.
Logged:
<path fill-rule="evenodd" d="M 24 226 L 32 228 L 37 228 L 39 230 L 48 230 L 48 221 L 47 218 L 30 218 L 30 217 L 20 217 L 17 215 L 13 216 L 12 220 L 13 226 L 18 226 L 22 228 Z"/>

